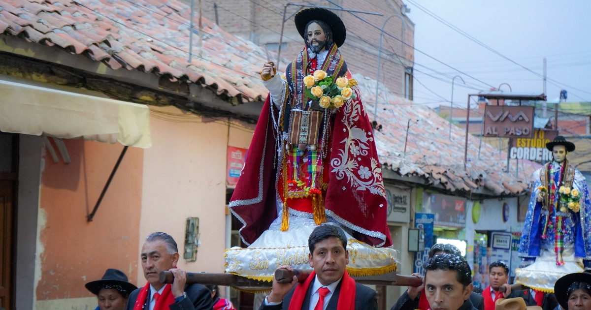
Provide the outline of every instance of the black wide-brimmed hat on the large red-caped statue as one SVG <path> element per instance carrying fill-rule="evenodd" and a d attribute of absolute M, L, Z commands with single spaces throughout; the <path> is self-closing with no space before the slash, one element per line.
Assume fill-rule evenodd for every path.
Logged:
<path fill-rule="evenodd" d="M 300 32 L 304 40 L 306 40 L 306 25 L 308 22 L 314 20 L 326 22 L 330 26 L 333 36 L 332 40 L 337 47 L 345 43 L 345 38 L 347 37 L 345 24 L 343 24 L 343 21 L 338 15 L 324 8 L 307 8 L 296 13 L 294 21 L 296 21 L 297 32 Z"/>

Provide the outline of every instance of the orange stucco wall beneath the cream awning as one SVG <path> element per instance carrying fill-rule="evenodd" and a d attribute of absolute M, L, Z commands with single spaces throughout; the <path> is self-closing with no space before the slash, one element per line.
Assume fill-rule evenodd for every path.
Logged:
<path fill-rule="evenodd" d="M 55 163 L 49 154 L 42 159 L 35 270 L 38 310 L 56 309 L 55 305 L 96 307 L 96 298 L 84 285 L 100 279 L 108 268 L 121 269 L 132 282 L 137 279 L 144 151 L 128 149 L 89 223 L 86 216 L 123 146 L 82 139 L 64 142 L 70 164 Z"/>

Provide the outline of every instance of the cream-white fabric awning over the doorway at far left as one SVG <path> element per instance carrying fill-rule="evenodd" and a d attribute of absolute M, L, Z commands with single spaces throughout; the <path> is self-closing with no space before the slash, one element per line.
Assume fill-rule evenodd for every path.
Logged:
<path fill-rule="evenodd" d="M 0 131 L 152 146 L 148 106 L 8 76 L 0 76 Z"/>

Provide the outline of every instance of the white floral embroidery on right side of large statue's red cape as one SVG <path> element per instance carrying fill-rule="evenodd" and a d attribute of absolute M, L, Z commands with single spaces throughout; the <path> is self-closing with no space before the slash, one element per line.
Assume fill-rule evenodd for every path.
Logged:
<path fill-rule="evenodd" d="M 355 92 L 357 97 L 356 99 L 349 100 L 342 107 L 344 116 L 340 120 L 345 125 L 343 132 L 347 132 L 348 130 L 349 135 L 343 141 L 340 141 L 340 143 L 345 142 L 345 146 L 343 149 L 339 149 L 339 155 L 330 161 L 330 166 L 332 167 L 331 172 L 335 172 L 337 180 L 347 177 L 351 186 L 358 191 L 368 190 L 372 194 L 385 198 L 386 193 L 384 182 L 382 181 L 382 169 L 378 167 L 378 161 L 375 158 L 371 158 L 371 167 L 369 168 L 359 167 L 358 162 L 355 161 L 355 159 L 361 159 L 361 156 L 368 156 L 368 150 L 370 149 L 369 142 L 374 141 L 374 138 L 372 138 L 370 132 L 365 132 L 365 130 L 353 126 L 353 123 L 359 120 L 360 117 L 367 117 L 365 111 L 362 110 L 361 101 L 359 100 L 361 98 L 359 89 L 353 87 L 353 92 Z M 355 151 L 358 150 L 359 154 L 355 154 L 352 148 L 355 148 Z M 362 168 L 363 174 L 361 174 Z M 355 171 L 358 171 L 359 178 L 356 176 Z"/>

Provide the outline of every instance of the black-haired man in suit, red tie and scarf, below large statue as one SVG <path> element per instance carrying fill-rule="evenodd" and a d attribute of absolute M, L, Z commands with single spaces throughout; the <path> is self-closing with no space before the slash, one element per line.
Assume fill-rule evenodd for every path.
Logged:
<path fill-rule="evenodd" d="M 347 239 L 340 227 L 332 224 L 316 227 L 308 239 L 308 260 L 314 272 L 304 283 L 298 283 L 295 276 L 291 283 L 273 279 L 271 294 L 259 310 L 287 310 L 290 304 L 302 310 L 336 310 L 338 304 L 352 302 L 355 310 L 377 310 L 376 292 L 355 283 L 346 272 L 349 263 L 346 246 Z M 291 266 L 279 268 L 293 270 Z"/>

